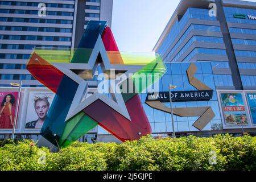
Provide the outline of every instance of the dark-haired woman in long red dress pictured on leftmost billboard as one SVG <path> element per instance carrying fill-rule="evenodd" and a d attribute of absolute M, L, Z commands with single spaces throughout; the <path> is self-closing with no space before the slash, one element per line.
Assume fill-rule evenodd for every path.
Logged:
<path fill-rule="evenodd" d="M 7 94 L 2 101 L 0 110 L 0 129 L 12 129 L 14 124 L 15 97 L 13 94 Z"/>

